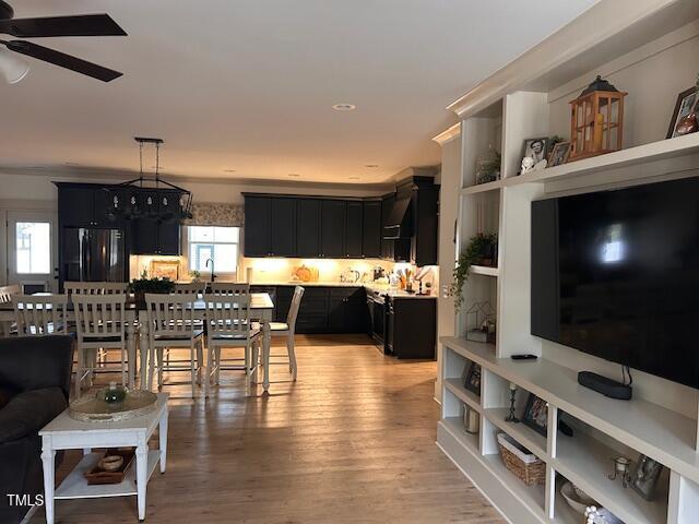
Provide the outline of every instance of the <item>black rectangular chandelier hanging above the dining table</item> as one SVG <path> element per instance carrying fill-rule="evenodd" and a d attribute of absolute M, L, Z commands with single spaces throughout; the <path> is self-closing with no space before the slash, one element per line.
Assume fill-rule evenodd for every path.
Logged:
<path fill-rule="evenodd" d="M 162 139 L 135 136 L 139 143 L 139 178 L 107 189 L 108 215 L 126 221 L 150 219 L 158 223 L 181 223 L 192 217 L 192 193 L 161 178 Z M 143 172 L 143 148 L 155 148 L 155 172 Z"/>

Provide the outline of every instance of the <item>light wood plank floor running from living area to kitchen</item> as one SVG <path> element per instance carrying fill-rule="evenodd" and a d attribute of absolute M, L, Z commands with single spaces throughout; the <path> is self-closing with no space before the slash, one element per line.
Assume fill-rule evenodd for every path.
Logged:
<path fill-rule="evenodd" d="M 238 371 L 208 402 L 164 388 L 167 472 L 149 483 L 146 523 L 503 522 L 435 444 L 435 362 L 384 357 L 366 336 L 297 341 L 298 381 L 273 366 L 269 395 L 246 397 Z M 59 478 L 80 456 L 67 455 Z M 138 522 L 134 497 L 59 500 L 56 516 Z"/>

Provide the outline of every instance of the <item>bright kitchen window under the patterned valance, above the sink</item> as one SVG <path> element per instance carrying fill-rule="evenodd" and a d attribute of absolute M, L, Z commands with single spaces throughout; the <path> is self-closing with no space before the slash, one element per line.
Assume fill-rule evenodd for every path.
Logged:
<path fill-rule="evenodd" d="M 216 273 L 235 273 L 238 267 L 239 227 L 189 226 L 190 271 L 210 272 L 212 259 Z"/>

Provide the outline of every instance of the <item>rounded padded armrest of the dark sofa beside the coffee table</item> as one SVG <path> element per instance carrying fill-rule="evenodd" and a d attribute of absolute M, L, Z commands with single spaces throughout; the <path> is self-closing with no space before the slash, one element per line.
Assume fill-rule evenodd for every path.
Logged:
<path fill-rule="evenodd" d="M 0 409 L 0 443 L 38 432 L 67 407 L 60 388 L 20 393 Z"/>

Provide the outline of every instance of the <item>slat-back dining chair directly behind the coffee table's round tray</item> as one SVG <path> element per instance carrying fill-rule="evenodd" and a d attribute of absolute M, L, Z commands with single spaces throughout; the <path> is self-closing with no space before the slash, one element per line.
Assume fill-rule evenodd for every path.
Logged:
<path fill-rule="evenodd" d="M 127 325 L 125 294 L 74 295 L 75 326 L 78 331 L 78 364 L 75 366 L 75 398 L 80 398 L 82 382 L 97 369 L 92 355 L 98 350 L 119 349 L 121 355 L 121 383 L 127 385 Z M 92 362 L 88 364 L 88 362 Z M 133 366 L 134 362 L 128 362 Z"/>

